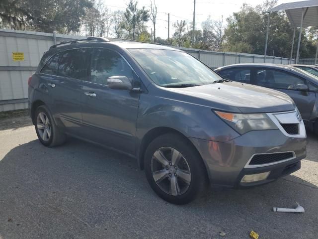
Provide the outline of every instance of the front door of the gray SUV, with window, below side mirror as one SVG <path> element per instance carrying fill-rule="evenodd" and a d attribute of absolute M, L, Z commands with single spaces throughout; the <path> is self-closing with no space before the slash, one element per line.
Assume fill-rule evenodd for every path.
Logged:
<path fill-rule="evenodd" d="M 107 78 L 137 75 L 117 52 L 105 48 L 93 50 L 89 80 L 81 94 L 82 123 L 87 139 L 120 151 L 135 154 L 139 92 L 114 90 Z"/>

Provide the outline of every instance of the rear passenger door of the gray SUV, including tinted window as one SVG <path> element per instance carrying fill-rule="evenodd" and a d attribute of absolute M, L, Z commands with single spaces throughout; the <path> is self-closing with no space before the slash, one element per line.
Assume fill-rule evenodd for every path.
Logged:
<path fill-rule="evenodd" d="M 52 97 L 50 109 L 53 116 L 60 126 L 64 126 L 65 130 L 76 135 L 80 133 L 80 97 L 82 83 L 87 79 L 87 51 L 86 48 L 72 49 L 53 56 L 51 63 L 55 62 L 54 71 L 55 68 L 57 69 L 55 76 L 50 73 L 51 64 L 42 70 Z"/>

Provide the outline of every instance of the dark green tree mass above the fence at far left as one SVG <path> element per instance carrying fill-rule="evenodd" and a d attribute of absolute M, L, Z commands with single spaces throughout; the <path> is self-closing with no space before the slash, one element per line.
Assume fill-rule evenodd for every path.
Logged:
<path fill-rule="evenodd" d="M 78 32 L 92 0 L 1 0 L 0 27 L 60 33 Z"/>

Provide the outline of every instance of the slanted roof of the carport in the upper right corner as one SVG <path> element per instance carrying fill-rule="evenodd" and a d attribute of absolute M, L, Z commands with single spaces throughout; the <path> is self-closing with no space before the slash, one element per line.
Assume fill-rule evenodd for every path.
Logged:
<path fill-rule="evenodd" d="M 303 27 L 318 26 L 318 0 L 282 3 L 269 9 L 268 12 L 285 10 L 292 27 L 300 27 L 303 8 L 305 9 Z"/>

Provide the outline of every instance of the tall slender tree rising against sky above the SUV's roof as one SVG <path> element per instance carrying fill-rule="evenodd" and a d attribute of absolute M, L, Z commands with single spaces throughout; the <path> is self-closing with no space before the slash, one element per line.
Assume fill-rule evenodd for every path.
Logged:
<path fill-rule="evenodd" d="M 136 27 L 149 20 L 148 10 L 145 9 L 145 6 L 143 6 L 141 9 L 138 9 L 137 4 L 138 1 L 134 2 L 133 0 L 130 0 L 126 8 L 126 12 L 124 13 L 124 16 L 127 20 L 125 28 L 128 31 L 132 30 L 132 36 L 134 40 Z"/>

